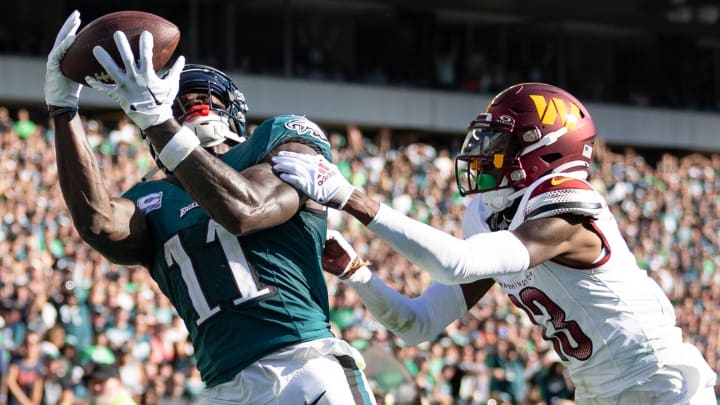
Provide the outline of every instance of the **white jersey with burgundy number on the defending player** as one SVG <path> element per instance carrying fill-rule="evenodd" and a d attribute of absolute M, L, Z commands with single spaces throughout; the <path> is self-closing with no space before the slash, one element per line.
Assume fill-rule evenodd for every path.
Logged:
<path fill-rule="evenodd" d="M 667 296 L 637 266 L 607 203 L 585 180 L 557 174 L 538 179 L 509 229 L 564 213 L 591 218 L 604 247 L 593 266 L 547 261 L 495 281 L 543 328 L 578 397 L 611 396 L 653 376 L 682 346 L 682 332 Z"/>

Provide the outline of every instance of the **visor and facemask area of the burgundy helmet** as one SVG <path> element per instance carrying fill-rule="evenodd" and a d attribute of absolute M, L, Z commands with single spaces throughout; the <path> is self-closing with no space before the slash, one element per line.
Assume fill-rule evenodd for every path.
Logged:
<path fill-rule="evenodd" d="M 460 155 L 455 158 L 455 178 L 461 195 L 499 188 L 510 135 L 488 128 L 468 130 Z"/>

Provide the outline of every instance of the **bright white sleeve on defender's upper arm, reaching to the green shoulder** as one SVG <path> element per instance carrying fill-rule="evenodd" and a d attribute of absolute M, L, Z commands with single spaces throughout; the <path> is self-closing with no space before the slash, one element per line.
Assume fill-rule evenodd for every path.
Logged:
<path fill-rule="evenodd" d="M 462 284 L 526 270 L 530 253 L 512 232 L 461 240 L 381 204 L 367 228 L 445 284 Z"/>

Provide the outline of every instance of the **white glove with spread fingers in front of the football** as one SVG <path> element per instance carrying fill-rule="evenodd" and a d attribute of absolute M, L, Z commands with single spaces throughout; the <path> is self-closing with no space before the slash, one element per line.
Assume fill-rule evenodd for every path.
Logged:
<path fill-rule="evenodd" d="M 165 77 L 160 78 L 152 64 L 151 33 L 143 31 L 140 34 L 140 58 L 137 65 L 125 33 L 116 31 L 113 39 L 125 65 L 124 70 L 105 49 L 96 46 L 93 48 L 95 59 L 115 83 L 105 84 L 90 76 L 85 81 L 117 101 L 125 114 L 143 131 L 173 118 L 172 104 L 180 87 L 180 72 L 185 66 L 185 58 L 180 56 Z"/>

